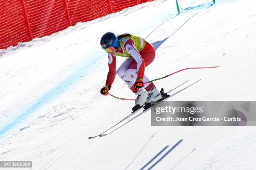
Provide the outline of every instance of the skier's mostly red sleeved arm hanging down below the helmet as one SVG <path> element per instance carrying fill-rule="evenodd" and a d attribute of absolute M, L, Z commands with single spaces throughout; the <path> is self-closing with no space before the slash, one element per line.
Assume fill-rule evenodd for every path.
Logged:
<path fill-rule="evenodd" d="M 108 53 L 108 77 L 106 80 L 106 85 L 112 83 L 115 80 L 115 67 L 116 67 L 116 57 Z"/>

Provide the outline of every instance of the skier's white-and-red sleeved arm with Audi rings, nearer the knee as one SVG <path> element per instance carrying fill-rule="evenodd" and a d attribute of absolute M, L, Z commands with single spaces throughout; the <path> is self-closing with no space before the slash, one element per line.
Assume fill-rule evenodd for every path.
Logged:
<path fill-rule="evenodd" d="M 124 44 L 126 52 L 131 54 L 133 59 L 137 62 L 138 77 L 144 77 L 145 63 L 141 58 L 140 53 L 134 45 L 133 39 L 129 38 Z"/>

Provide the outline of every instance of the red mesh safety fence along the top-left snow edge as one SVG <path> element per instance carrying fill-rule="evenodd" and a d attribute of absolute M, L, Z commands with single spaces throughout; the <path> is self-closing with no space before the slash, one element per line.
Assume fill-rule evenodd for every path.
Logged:
<path fill-rule="evenodd" d="M 152 0 L 0 0 L 0 49 Z"/>

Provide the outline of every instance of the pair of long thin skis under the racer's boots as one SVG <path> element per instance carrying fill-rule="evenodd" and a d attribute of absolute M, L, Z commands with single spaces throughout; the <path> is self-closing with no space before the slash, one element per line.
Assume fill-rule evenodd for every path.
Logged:
<path fill-rule="evenodd" d="M 200 80 L 201 80 L 201 79 L 200 79 Z M 161 102 L 164 101 L 164 100 L 169 99 L 170 97 L 172 97 L 172 96 L 176 95 L 177 93 L 179 93 L 179 92 L 185 90 L 186 88 L 188 88 L 188 87 L 194 85 L 195 83 L 199 82 L 200 80 L 197 80 L 196 82 L 192 83 L 191 85 L 188 85 L 187 87 L 184 87 L 183 89 L 181 89 L 181 90 L 179 90 L 179 91 L 173 93 L 172 95 L 166 95 L 165 97 L 161 98 L 160 100 L 158 100 L 158 101 L 156 101 L 154 104 L 152 104 L 151 107 L 153 107 L 154 105 L 157 105 L 157 104 L 161 103 Z M 188 80 L 187 80 L 186 82 L 188 82 Z M 183 82 L 182 84 L 178 85 L 177 87 L 173 88 L 172 90 L 169 90 L 169 91 L 166 92 L 166 93 L 168 94 L 169 92 L 172 92 L 173 90 L 177 89 L 177 88 L 180 87 L 181 85 L 184 85 L 186 82 Z M 119 126 L 118 128 L 115 128 L 115 129 L 112 130 L 111 132 L 106 133 L 108 130 L 114 128 L 115 126 L 117 126 L 118 124 L 120 124 L 121 122 L 123 122 L 124 120 L 126 120 L 126 119 L 128 119 L 129 117 L 131 117 L 132 115 L 134 115 L 136 112 L 138 112 L 139 110 L 141 110 L 143 107 L 138 108 L 138 110 L 133 111 L 130 115 L 128 115 L 127 117 L 125 117 L 125 118 L 123 118 L 122 120 L 120 120 L 119 122 L 117 122 L 115 125 L 113 125 L 112 127 L 110 127 L 108 130 L 105 130 L 104 132 L 100 133 L 100 134 L 97 135 L 97 136 L 89 137 L 89 139 L 94 139 L 94 138 L 96 138 L 96 137 L 98 137 L 98 136 L 103 137 L 103 136 L 109 135 L 110 133 L 113 133 L 115 130 L 118 130 L 118 129 L 121 128 L 122 126 L 126 125 L 128 122 L 131 122 L 131 121 L 134 120 L 136 117 L 138 117 L 138 116 L 142 115 L 143 113 L 147 112 L 148 110 L 150 110 L 151 107 L 148 107 L 147 109 L 143 110 L 141 113 L 139 113 L 138 115 L 136 115 L 135 117 L 133 117 L 133 118 L 130 119 L 129 121 L 125 122 L 123 125 Z"/>

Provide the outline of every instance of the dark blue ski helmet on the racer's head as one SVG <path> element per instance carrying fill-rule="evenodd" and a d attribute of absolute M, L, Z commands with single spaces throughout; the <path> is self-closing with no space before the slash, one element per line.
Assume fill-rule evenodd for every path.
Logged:
<path fill-rule="evenodd" d="M 101 37 L 100 45 L 103 50 L 109 47 L 114 47 L 115 49 L 118 49 L 119 48 L 118 37 L 115 36 L 113 32 L 107 32 Z"/>

